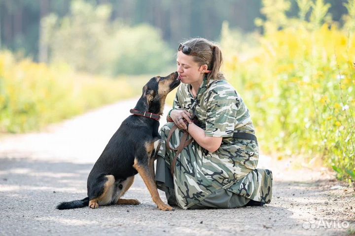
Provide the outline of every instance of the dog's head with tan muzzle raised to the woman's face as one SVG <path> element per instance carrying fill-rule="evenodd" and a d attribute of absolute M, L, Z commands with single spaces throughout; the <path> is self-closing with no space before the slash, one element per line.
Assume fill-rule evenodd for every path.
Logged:
<path fill-rule="evenodd" d="M 151 78 L 143 87 L 140 101 L 144 107 L 137 107 L 141 110 L 148 110 L 155 114 L 163 114 L 166 96 L 180 84 L 178 72 L 161 77 Z M 137 104 L 138 105 L 138 104 Z"/>

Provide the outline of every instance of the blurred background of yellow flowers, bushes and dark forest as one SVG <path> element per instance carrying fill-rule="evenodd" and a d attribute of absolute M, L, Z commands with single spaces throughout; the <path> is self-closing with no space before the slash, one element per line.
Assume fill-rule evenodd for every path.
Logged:
<path fill-rule="evenodd" d="M 0 0 L 0 133 L 137 97 L 200 36 L 221 46 L 263 152 L 352 184 L 354 32 L 355 0 Z"/>

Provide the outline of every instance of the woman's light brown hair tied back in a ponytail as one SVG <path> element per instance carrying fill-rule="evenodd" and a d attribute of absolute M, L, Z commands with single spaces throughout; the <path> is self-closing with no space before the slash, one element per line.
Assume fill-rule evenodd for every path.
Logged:
<path fill-rule="evenodd" d="M 199 66 L 207 64 L 208 70 L 211 70 L 207 75 L 207 81 L 210 81 L 211 77 L 216 80 L 224 79 L 223 73 L 219 71 L 223 61 L 222 52 L 216 44 L 205 38 L 191 38 L 183 42 L 182 45 L 189 46 L 192 51 L 198 53 L 200 57 L 191 56 Z"/>

